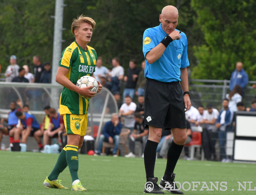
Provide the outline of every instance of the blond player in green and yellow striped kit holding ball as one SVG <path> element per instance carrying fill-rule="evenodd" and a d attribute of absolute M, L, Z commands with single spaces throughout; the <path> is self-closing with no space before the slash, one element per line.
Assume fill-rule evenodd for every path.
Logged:
<path fill-rule="evenodd" d="M 63 116 L 68 142 L 60 152 L 51 174 L 44 180 L 44 186 L 48 188 L 67 189 L 57 179 L 59 174 L 68 166 L 73 182 L 72 190 L 86 191 L 77 175 L 77 150 L 83 145 L 86 133 L 89 98 L 94 97 L 96 93 L 89 90 L 91 87 L 79 88 L 76 86 L 76 82 L 82 76 L 93 76 L 97 54 L 87 44 L 91 41 L 92 30 L 95 25 L 96 23 L 92 18 L 83 15 L 74 19 L 71 31 L 76 40 L 61 54 L 56 82 L 63 85 L 60 95 L 60 115 Z M 102 85 L 100 82 L 98 84 L 98 92 L 100 92 Z"/>

